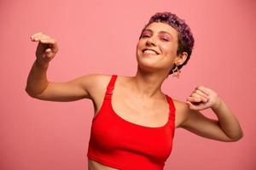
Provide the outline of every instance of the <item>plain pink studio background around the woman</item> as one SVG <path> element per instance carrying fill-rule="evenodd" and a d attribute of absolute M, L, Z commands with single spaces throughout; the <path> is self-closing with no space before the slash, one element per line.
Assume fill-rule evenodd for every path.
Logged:
<path fill-rule="evenodd" d="M 0 169 L 87 169 L 92 103 L 40 101 L 26 94 L 37 46 L 30 35 L 43 31 L 59 42 L 51 81 L 90 73 L 133 76 L 140 31 L 158 11 L 185 19 L 195 36 L 189 65 L 179 80 L 169 77 L 163 91 L 184 100 L 197 85 L 214 89 L 245 134 L 236 143 L 223 143 L 177 129 L 165 169 L 256 169 L 255 7 L 253 0 L 1 0 Z"/>

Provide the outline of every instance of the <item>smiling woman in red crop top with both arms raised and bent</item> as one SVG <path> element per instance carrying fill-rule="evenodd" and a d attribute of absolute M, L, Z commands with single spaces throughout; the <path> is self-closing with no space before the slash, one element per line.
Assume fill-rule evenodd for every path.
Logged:
<path fill-rule="evenodd" d="M 31 39 L 38 42 L 38 48 L 27 94 L 52 101 L 93 101 L 95 116 L 87 155 L 90 170 L 163 169 L 177 127 L 224 142 L 242 137 L 236 117 L 212 89 L 199 86 L 186 102 L 161 92 L 169 74 L 179 76 L 194 45 L 189 26 L 175 14 L 154 14 L 143 28 L 135 77 L 86 75 L 69 82 L 49 82 L 46 72 L 58 51 L 57 43 L 41 32 Z M 218 120 L 201 114 L 207 108 Z"/>

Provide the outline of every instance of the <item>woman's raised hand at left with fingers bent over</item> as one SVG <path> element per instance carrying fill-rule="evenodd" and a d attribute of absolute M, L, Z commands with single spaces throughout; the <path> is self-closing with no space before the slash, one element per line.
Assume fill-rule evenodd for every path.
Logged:
<path fill-rule="evenodd" d="M 48 64 L 58 51 L 58 45 L 55 42 L 55 39 L 42 32 L 35 33 L 30 38 L 32 42 L 38 42 L 36 51 L 37 62 L 40 65 Z"/>

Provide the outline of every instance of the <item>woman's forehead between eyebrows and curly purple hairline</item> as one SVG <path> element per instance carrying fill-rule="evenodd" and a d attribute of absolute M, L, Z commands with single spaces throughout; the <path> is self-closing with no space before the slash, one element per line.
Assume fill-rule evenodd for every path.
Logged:
<path fill-rule="evenodd" d="M 162 22 L 153 22 L 150 25 L 148 25 L 145 29 L 146 30 L 149 29 L 154 33 L 162 32 L 162 31 L 168 32 L 169 34 L 172 35 L 174 39 L 177 39 L 177 36 L 178 36 L 177 31 L 172 26 L 169 26 L 168 24 L 162 23 Z"/>

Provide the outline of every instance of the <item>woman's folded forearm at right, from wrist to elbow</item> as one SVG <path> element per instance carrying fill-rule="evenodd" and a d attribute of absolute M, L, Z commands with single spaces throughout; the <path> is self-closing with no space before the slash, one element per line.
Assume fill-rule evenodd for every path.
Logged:
<path fill-rule="evenodd" d="M 212 111 L 218 116 L 219 126 L 230 139 L 241 139 L 243 136 L 241 126 L 237 121 L 236 116 L 222 99 L 219 99 L 218 104 L 212 107 Z"/>

